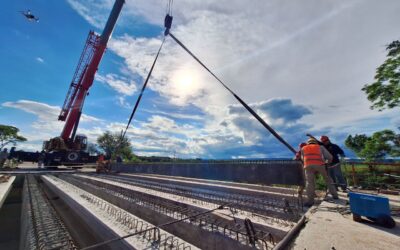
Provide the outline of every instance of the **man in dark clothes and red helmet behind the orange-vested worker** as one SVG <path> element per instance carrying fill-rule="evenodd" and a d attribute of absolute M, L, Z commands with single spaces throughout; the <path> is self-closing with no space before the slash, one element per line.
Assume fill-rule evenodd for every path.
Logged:
<path fill-rule="evenodd" d="M 338 186 L 340 186 L 342 191 L 346 192 L 347 182 L 346 179 L 343 177 L 342 168 L 339 160 L 339 157 L 340 159 L 344 158 L 343 150 L 338 145 L 333 144 L 330 141 L 329 137 L 326 135 L 321 136 L 320 141 L 333 156 L 332 162 L 328 164 L 328 174 L 335 183 L 336 190 L 338 190 Z"/>

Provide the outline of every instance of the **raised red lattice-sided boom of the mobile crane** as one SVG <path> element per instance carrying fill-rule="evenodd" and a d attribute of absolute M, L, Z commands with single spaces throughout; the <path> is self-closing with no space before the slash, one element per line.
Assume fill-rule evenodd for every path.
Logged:
<path fill-rule="evenodd" d="M 79 125 L 85 97 L 92 86 L 94 76 L 106 50 L 108 40 L 121 13 L 125 0 L 116 0 L 108 17 L 102 34 L 99 36 L 93 31 L 89 32 L 84 50 L 79 59 L 70 88 L 64 101 L 63 108 L 58 117 L 65 121 L 61 138 L 65 142 L 74 140 Z"/>

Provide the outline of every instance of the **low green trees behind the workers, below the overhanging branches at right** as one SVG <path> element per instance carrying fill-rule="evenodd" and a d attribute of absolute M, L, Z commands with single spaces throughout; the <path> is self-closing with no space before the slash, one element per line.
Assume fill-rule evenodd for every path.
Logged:
<path fill-rule="evenodd" d="M 389 129 L 375 132 L 372 136 L 349 135 L 345 145 L 357 156 L 369 161 L 383 159 L 386 156 L 400 156 L 400 134 Z"/>

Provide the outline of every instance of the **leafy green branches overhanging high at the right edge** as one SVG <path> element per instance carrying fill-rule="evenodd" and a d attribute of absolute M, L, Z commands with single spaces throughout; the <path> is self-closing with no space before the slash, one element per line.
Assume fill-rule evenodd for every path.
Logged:
<path fill-rule="evenodd" d="M 362 88 L 372 102 L 371 108 L 379 111 L 400 105 L 400 41 L 393 41 L 386 50 L 387 59 L 376 69 L 375 82 Z"/>

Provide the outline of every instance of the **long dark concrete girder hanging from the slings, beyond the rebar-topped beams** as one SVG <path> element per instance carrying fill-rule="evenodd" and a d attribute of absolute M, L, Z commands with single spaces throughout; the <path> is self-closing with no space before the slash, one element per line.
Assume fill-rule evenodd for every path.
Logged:
<path fill-rule="evenodd" d="M 251 184 L 304 185 L 299 161 L 246 163 L 132 163 L 114 164 L 112 170 L 126 173 L 158 174 Z"/>

